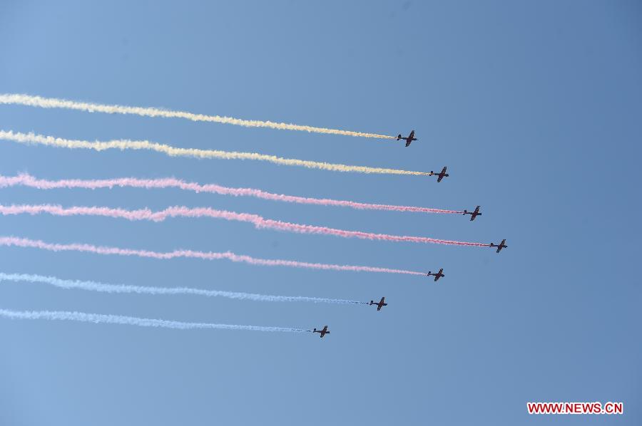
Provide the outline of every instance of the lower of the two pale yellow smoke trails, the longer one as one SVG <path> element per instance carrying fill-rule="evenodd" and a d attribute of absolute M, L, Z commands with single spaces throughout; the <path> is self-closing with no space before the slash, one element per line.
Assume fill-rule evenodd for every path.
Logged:
<path fill-rule="evenodd" d="M 199 150 L 195 148 L 177 148 L 170 145 L 163 145 L 148 140 L 110 140 L 108 142 L 90 142 L 88 140 L 71 140 L 62 137 L 36 135 L 35 133 L 20 133 L 11 130 L 0 130 L 1 140 L 11 140 L 19 143 L 36 143 L 54 147 L 87 150 L 151 150 L 163 152 L 172 157 L 197 157 L 197 158 L 218 158 L 220 160 L 259 160 L 272 162 L 278 165 L 301 166 L 310 169 L 330 170 L 332 172 L 357 172 L 357 173 L 378 173 L 382 175 L 425 175 L 426 172 L 412 172 L 407 170 L 386 169 L 382 167 L 350 166 L 333 164 L 329 162 L 318 162 L 309 160 L 297 160 L 295 158 L 282 158 L 275 155 L 264 155 L 256 152 L 230 152 L 219 150 Z"/>

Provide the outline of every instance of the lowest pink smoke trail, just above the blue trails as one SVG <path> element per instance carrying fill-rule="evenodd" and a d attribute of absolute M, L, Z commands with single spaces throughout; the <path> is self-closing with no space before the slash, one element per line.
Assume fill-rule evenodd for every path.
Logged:
<path fill-rule="evenodd" d="M 281 260 L 281 259 L 257 259 L 255 257 L 234 254 L 231 251 L 215 253 L 213 251 L 194 251 L 194 250 L 174 250 L 167 252 L 121 249 L 118 247 L 93 246 L 91 244 L 53 244 L 45 241 L 18 238 L 18 237 L 0 237 L 0 246 L 16 246 L 33 249 L 42 249 L 49 251 L 83 251 L 94 254 L 118 254 L 120 256 L 139 256 L 152 259 L 175 259 L 187 257 L 191 259 L 218 260 L 228 259 L 233 262 L 243 262 L 259 266 L 288 266 L 290 268 L 322 269 L 329 271 L 353 271 L 353 272 L 381 272 L 384 274 L 408 274 L 408 275 L 425 275 L 424 272 L 407 271 L 404 269 L 379 268 L 377 266 L 353 266 L 353 265 L 335 265 L 335 264 L 313 264 L 309 262 Z"/>

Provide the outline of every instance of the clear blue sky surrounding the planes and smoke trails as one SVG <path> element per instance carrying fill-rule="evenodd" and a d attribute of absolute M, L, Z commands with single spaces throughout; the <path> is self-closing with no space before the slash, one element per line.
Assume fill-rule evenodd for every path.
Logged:
<path fill-rule="evenodd" d="M 330 336 L 0 319 L 0 424 L 640 425 L 642 8 L 635 1 L 3 1 L 0 93 L 397 135 L 402 142 L 0 106 L 0 128 L 149 139 L 450 177 L 0 142 L 0 173 L 179 177 L 362 202 L 368 212 L 176 189 L 0 189 L 2 204 L 209 206 L 509 249 L 341 239 L 215 219 L 2 217 L 0 234 L 167 251 L 232 250 L 427 270 L 421 276 L 0 248 L 0 271 L 111 284 L 386 296 L 389 306 L 108 295 L 0 284 L 0 307 L 319 327 Z M 623 401 L 623 417 L 526 414 Z"/>

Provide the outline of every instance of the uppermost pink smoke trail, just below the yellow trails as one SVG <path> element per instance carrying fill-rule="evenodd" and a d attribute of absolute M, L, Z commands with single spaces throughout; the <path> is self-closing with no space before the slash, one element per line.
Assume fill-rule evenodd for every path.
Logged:
<path fill-rule="evenodd" d="M 173 177 L 163 179 L 136 179 L 134 177 L 121 177 L 119 179 L 101 180 L 40 180 L 31 175 L 21 174 L 16 177 L 0 175 L 0 188 L 23 185 L 37 189 L 54 188 L 84 188 L 99 189 L 113 187 L 135 187 L 135 188 L 180 188 L 185 191 L 210 192 L 220 195 L 233 195 L 235 197 L 257 197 L 270 199 L 272 201 L 293 202 L 297 204 L 315 204 L 320 206 L 350 207 L 352 209 L 388 210 L 394 212 L 417 212 L 417 213 L 450 213 L 462 214 L 458 210 L 429 209 L 428 207 L 395 206 L 389 204 L 370 204 L 362 202 L 344 201 L 340 199 L 296 197 L 294 195 L 273 194 L 260 189 L 252 188 L 230 188 L 215 184 L 201 185 L 195 182 L 185 182 Z"/>

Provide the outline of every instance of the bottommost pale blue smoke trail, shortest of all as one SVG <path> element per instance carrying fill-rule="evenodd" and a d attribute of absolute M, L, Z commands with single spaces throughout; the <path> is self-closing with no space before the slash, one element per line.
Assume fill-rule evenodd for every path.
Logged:
<path fill-rule="evenodd" d="M 311 330 L 290 327 L 239 326 L 236 324 L 213 323 L 183 323 L 151 318 L 136 318 L 134 316 L 103 315 L 101 313 L 83 313 L 68 311 L 9 311 L 0 309 L 0 316 L 9 319 L 31 319 L 49 321 L 81 321 L 96 324 L 123 324 L 139 327 L 173 328 L 175 330 L 218 329 L 218 330 L 250 330 L 250 331 L 289 331 L 290 333 L 311 333 Z"/>

